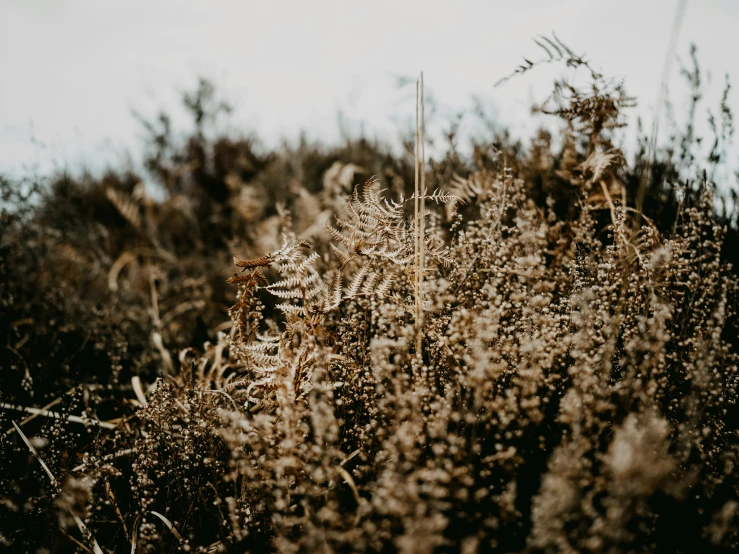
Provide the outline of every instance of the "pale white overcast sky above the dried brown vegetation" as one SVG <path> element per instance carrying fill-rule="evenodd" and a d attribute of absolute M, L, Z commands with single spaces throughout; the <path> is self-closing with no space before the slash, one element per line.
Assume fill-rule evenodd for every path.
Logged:
<path fill-rule="evenodd" d="M 531 128 L 530 98 L 551 72 L 494 88 L 532 38 L 552 31 L 606 75 L 622 76 L 651 117 L 677 0 L 372 2 L 0 0 L 0 173 L 93 168 L 136 159 L 131 110 L 179 111 L 179 94 L 210 78 L 236 108 L 236 132 L 266 145 L 301 130 L 335 141 L 337 112 L 370 136 L 394 138 L 413 114 L 395 76 L 424 71 L 439 123 L 476 95 L 514 132 Z M 739 81 L 739 0 L 688 0 L 677 53 L 696 42 L 714 110 Z M 677 83 L 678 65 L 672 82 Z M 730 103 L 739 112 L 739 83 Z M 685 87 L 672 86 L 678 111 Z M 684 111 L 684 109 L 683 109 Z M 738 137 L 739 138 L 739 137 Z"/>

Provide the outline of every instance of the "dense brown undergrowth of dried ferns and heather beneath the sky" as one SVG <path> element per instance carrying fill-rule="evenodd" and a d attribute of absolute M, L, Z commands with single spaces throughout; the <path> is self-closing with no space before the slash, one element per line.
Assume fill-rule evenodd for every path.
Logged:
<path fill-rule="evenodd" d="M 739 548 L 727 97 L 707 159 L 691 119 L 629 162 L 544 46 L 560 135 L 431 160 L 422 236 L 412 156 L 214 137 L 207 83 L 147 123 L 161 200 L 2 180 L 2 547 Z"/>

